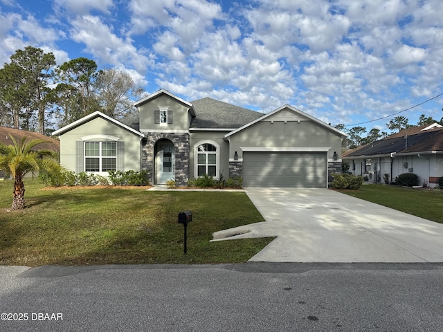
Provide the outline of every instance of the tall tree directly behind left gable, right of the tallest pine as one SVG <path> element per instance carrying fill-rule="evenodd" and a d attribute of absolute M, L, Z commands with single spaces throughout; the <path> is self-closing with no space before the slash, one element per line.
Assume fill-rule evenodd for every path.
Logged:
<path fill-rule="evenodd" d="M 55 69 L 55 82 L 65 84 L 56 92 L 57 104 L 64 105 L 65 118 L 75 121 L 98 108 L 93 95 L 93 82 L 97 77 L 97 64 L 86 57 L 78 57 Z M 66 102 L 66 95 L 72 98 Z M 61 98 L 61 99 L 60 99 Z M 66 108 L 69 106 L 69 109 Z"/>

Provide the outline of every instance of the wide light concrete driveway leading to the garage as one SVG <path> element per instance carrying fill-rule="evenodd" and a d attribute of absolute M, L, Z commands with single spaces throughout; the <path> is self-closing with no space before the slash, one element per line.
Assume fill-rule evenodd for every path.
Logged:
<path fill-rule="evenodd" d="M 443 225 L 327 189 L 245 188 L 266 221 L 214 233 L 277 237 L 250 261 L 443 262 Z"/>

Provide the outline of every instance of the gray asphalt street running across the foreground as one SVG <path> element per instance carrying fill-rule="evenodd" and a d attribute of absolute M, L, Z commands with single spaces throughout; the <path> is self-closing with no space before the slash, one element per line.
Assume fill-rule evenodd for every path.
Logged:
<path fill-rule="evenodd" d="M 443 264 L 0 266 L 0 331 L 443 331 Z"/>

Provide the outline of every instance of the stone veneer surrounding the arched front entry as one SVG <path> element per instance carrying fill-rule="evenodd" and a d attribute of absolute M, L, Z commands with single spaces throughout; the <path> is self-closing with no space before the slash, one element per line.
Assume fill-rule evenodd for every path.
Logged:
<path fill-rule="evenodd" d="M 189 133 L 146 133 L 142 147 L 142 169 L 147 170 L 150 182 L 154 184 L 154 147 L 161 139 L 170 140 L 175 147 L 175 183 L 184 186 L 189 180 Z"/>

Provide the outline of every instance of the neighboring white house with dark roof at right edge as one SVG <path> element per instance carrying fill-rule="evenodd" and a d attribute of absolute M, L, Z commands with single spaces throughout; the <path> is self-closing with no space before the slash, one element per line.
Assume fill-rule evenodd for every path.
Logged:
<path fill-rule="evenodd" d="M 399 174 L 415 173 L 417 185 L 437 185 L 443 176 L 443 127 L 426 124 L 411 127 L 363 147 L 348 151 L 343 160 L 350 162 L 350 172 L 367 177 L 369 182 L 389 182 Z"/>

